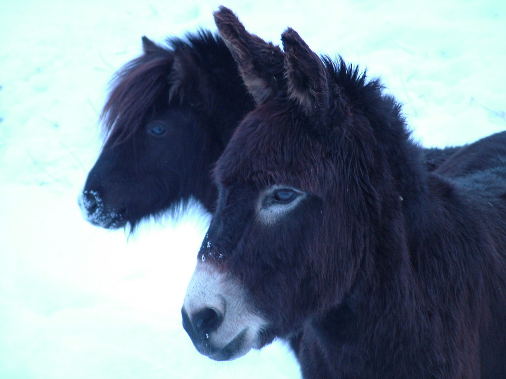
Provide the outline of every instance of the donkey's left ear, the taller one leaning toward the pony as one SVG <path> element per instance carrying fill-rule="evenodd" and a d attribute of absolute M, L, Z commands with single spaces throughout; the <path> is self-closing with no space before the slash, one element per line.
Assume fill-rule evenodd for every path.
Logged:
<path fill-rule="evenodd" d="M 264 103 L 283 85 L 283 52 L 279 46 L 248 33 L 230 9 L 221 6 L 214 17 L 244 84 L 257 103 Z"/>

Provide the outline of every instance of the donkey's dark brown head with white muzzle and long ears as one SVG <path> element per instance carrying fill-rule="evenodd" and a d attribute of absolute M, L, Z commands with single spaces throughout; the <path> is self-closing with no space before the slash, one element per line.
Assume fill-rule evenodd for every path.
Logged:
<path fill-rule="evenodd" d="M 218 208 L 183 306 L 196 348 L 221 360 L 297 334 L 367 276 L 379 193 L 395 187 L 378 138 L 406 136 L 376 81 L 320 59 L 294 30 L 280 56 L 230 10 L 215 19 L 258 102 L 217 163 Z M 377 136 L 382 117 L 394 136 Z"/>

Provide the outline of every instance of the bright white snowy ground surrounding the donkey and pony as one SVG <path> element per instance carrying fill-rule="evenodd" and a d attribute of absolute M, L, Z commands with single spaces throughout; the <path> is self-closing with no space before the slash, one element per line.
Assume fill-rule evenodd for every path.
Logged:
<path fill-rule="evenodd" d="M 146 223 L 128 241 L 122 230 L 87 224 L 77 207 L 113 72 L 140 54 L 144 34 L 162 41 L 214 29 L 219 5 L 0 5 L 0 378 L 300 376 L 280 342 L 222 363 L 191 345 L 180 308 L 208 222 L 198 206 Z M 279 42 L 291 26 L 315 51 L 381 75 L 426 146 L 506 129 L 502 0 L 224 5 L 265 39 Z"/>

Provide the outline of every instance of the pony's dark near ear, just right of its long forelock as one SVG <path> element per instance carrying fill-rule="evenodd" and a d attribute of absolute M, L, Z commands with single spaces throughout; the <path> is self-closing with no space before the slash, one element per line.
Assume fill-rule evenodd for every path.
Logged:
<path fill-rule="evenodd" d="M 171 83 L 169 102 L 179 99 L 179 103 L 206 109 L 211 106 L 212 94 L 207 75 L 192 56 L 188 46 L 182 44 L 174 51 L 174 64 L 168 77 Z"/>

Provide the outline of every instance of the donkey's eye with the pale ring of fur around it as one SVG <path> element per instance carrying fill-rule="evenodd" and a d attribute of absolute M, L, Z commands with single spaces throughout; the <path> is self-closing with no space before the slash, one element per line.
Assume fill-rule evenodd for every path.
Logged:
<path fill-rule="evenodd" d="M 265 223 L 274 223 L 296 208 L 306 196 L 306 193 L 291 187 L 275 185 L 268 188 L 260 195 L 258 217 Z"/>

